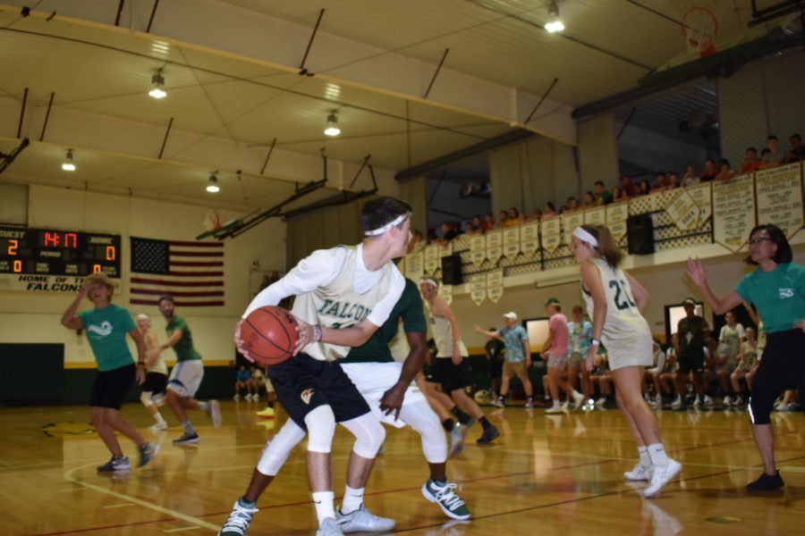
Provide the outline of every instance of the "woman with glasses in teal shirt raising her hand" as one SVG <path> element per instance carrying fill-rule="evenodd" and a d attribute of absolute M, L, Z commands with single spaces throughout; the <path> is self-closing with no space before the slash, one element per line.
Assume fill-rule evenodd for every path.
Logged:
<path fill-rule="evenodd" d="M 749 245 L 750 255 L 745 262 L 758 268 L 724 297 L 716 297 L 710 290 L 699 259 L 688 259 L 685 272 L 716 314 L 746 301 L 758 309 L 763 320 L 767 342 L 752 381 L 749 409 L 752 436 L 763 458 L 764 473 L 746 489 L 779 490 L 784 482 L 775 466 L 775 435 L 769 415 L 784 390 L 805 388 L 805 267 L 792 263 L 788 239 L 775 225 L 755 227 L 750 232 Z"/>

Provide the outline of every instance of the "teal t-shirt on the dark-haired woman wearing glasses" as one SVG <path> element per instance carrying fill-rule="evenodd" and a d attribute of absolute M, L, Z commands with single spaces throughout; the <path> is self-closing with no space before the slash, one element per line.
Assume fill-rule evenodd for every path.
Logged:
<path fill-rule="evenodd" d="M 794 329 L 805 319 L 805 266 L 778 264 L 771 272 L 758 266 L 735 286 L 735 292 L 758 308 L 767 333 Z"/>

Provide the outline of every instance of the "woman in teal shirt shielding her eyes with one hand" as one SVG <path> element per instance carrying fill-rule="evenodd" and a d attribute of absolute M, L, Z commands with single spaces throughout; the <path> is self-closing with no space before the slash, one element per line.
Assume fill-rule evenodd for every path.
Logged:
<path fill-rule="evenodd" d="M 112 281 L 104 273 L 88 275 L 79 295 L 72 300 L 62 315 L 62 325 L 71 330 L 87 333 L 89 346 L 97 362 L 97 375 L 92 384 L 89 400 L 89 419 L 97 435 L 112 452 L 112 459 L 97 467 L 98 471 L 126 471 L 131 468 L 128 456 L 117 441 L 115 431 L 131 438 L 140 449 L 140 464 L 146 465 L 157 448 L 148 443 L 134 426 L 120 415 L 123 400 L 136 379 L 145 380 L 145 342 L 142 333 L 121 306 L 112 304 Z M 88 297 L 95 308 L 76 313 L 81 301 Z M 135 366 L 126 346 L 126 334 L 137 344 L 139 359 Z"/>

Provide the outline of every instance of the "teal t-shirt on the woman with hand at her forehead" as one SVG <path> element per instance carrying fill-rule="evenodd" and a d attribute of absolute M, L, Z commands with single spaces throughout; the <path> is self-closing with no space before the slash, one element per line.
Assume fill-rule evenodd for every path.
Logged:
<path fill-rule="evenodd" d="M 97 370 L 114 371 L 133 363 L 126 334 L 137 326 L 126 309 L 110 304 L 103 309 L 81 311 L 78 315 L 95 355 Z"/>

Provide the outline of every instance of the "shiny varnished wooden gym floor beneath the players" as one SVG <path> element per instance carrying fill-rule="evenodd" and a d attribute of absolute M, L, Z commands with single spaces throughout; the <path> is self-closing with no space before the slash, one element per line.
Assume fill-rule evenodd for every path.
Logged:
<path fill-rule="evenodd" d="M 178 426 L 157 436 L 146 432 L 161 442 L 161 450 L 150 465 L 127 475 L 96 472 L 109 454 L 88 424 L 86 407 L 0 408 L 0 533 L 215 534 L 245 490 L 260 449 L 285 419 L 282 411 L 276 421 L 254 415 L 260 403 L 221 406 L 219 429 L 206 415 L 191 415 L 201 436 L 198 447 L 171 444 L 181 435 Z M 485 411 L 501 437 L 479 447 L 476 424 L 467 448 L 448 464 L 473 514 L 469 523 L 449 523 L 420 495 L 428 473 L 411 429 L 387 428 L 386 453 L 378 456 L 367 489 L 369 510 L 394 517 L 395 533 L 428 536 L 805 533 L 801 413 L 773 415 L 785 490 L 750 496 L 743 486 L 760 471 L 746 413 L 657 412 L 665 446 L 683 469 L 661 498 L 644 500 L 621 476 L 634 464 L 636 449 L 617 410 L 549 416 L 542 409 L 491 409 Z M 124 406 L 123 415 L 143 429 L 152 423 L 138 404 Z M 175 422 L 165 408 L 163 415 Z M 131 441 L 121 442 L 136 462 Z M 336 505 L 351 445 L 351 436 L 339 429 Z M 315 532 L 301 448 L 258 507 L 249 534 Z"/>

